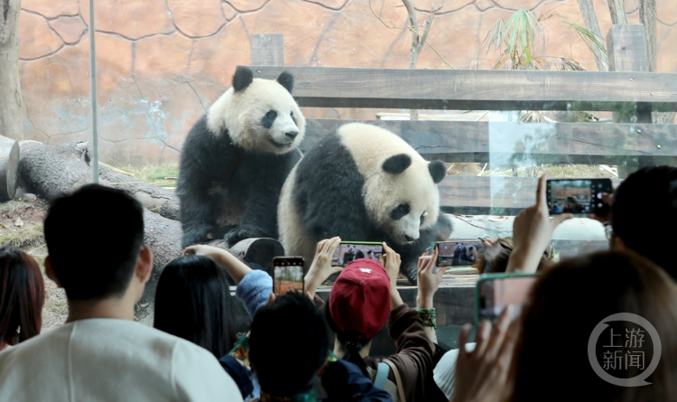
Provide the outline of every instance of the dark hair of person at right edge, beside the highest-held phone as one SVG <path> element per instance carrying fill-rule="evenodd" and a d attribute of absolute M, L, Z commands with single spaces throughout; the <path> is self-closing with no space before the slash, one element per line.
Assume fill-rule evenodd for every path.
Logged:
<path fill-rule="evenodd" d="M 677 168 L 646 167 L 630 174 L 614 194 L 611 217 L 615 235 L 628 248 L 677 279 L 677 259 L 669 246 L 677 243 Z"/>

